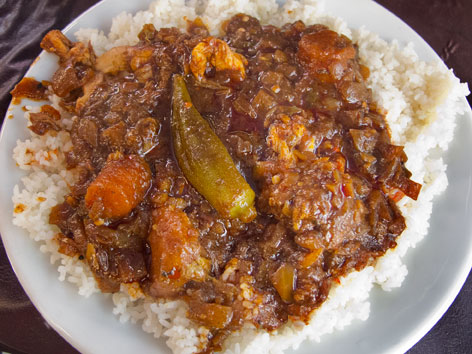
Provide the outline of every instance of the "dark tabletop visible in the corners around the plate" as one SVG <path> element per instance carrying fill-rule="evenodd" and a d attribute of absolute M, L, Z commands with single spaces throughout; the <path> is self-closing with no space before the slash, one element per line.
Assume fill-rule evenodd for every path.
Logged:
<path fill-rule="evenodd" d="M 94 0 L 0 0 L 0 119 L 13 88 L 52 28 L 64 28 Z M 463 82 L 472 82 L 472 1 L 378 0 L 415 29 Z M 25 10 L 27 9 L 27 10 Z M 471 98 L 469 97 L 469 103 Z M 35 310 L 0 244 L 0 350 L 76 353 Z M 472 276 L 436 326 L 409 353 L 472 353 Z"/>

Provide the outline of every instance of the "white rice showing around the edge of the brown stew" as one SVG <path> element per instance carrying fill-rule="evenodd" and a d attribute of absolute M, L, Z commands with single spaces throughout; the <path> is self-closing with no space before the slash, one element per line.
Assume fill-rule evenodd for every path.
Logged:
<path fill-rule="evenodd" d="M 441 155 L 452 140 L 456 116 L 466 110 L 462 97 L 469 90 L 442 63 L 420 61 L 412 45 L 401 48 L 365 29 L 351 31 L 343 20 L 323 14 L 322 1 L 316 0 L 287 1 L 282 8 L 275 0 L 158 0 L 147 11 L 118 15 L 107 35 L 96 29 L 81 29 L 75 35 L 81 41 L 90 41 L 101 54 L 117 45 L 135 44 L 145 23 L 156 28 L 185 28 L 185 17 L 198 15 L 212 33 L 218 33 L 221 22 L 238 12 L 255 16 L 263 24 L 280 25 L 299 19 L 306 24 L 323 23 L 351 37 L 359 46 L 362 62 L 371 70 L 368 85 L 374 99 L 388 112 L 393 143 L 405 146 L 412 179 L 423 184 L 416 202 L 408 198 L 400 202 L 407 229 L 398 239 L 398 246 L 375 267 L 342 279 L 309 325 L 290 323 L 273 334 L 247 325 L 225 343 L 226 353 L 282 353 L 290 347 L 298 348 L 305 339 L 319 341 L 322 335 L 342 329 L 355 319 L 366 320 L 371 288 L 379 285 L 390 290 L 401 285 L 407 275 L 402 257 L 426 235 L 433 198 L 447 187 Z M 51 101 L 59 108 L 57 97 L 51 97 Z M 64 125 L 70 125 L 69 118 L 63 112 Z M 77 258 L 57 252 L 52 238 L 58 230 L 48 223 L 50 208 L 63 200 L 68 184 L 74 181 L 74 172 L 64 168 L 64 152 L 70 148 L 70 137 L 64 132 L 45 136 L 31 133 L 30 139 L 18 141 L 13 157 L 28 175 L 22 179 L 22 187 L 15 186 L 13 191 L 14 205 L 24 207 L 23 212 L 14 213 L 14 224 L 40 242 L 41 251 L 58 266 L 59 280 L 75 283 L 81 295 L 90 296 L 99 292 L 90 270 Z M 187 319 L 182 301 L 155 302 L 132 286 L 122 286 L 111 299 L 113 313 L 121 322 L 140 323 L 154 337 L 167 337 L 166 343 L 174 353 L 194 353 L 205 343 L 208 331 Z"/>

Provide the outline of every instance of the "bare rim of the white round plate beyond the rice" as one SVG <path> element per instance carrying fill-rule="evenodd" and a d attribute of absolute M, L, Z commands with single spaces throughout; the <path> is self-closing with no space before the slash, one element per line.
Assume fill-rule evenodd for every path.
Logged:
<path fill-rule="evenodd" d="M 107 30 L 111 18 L 121 11 L 147 8 L 147 0 L 105 0 L 67 28 L 73 34 L 81 27 Z M 405 23 L 370 0 L 329 0 L 327 10 L 344 18 L 351 27 L 365 25 L 387 40 L 413 42 L 422 60 L 437 59 L 434 51 Z M 49 78 L 53 56 L 42 53 L 26 76 Z M 84 353 L 168 353 L 163 340 L 155 340 L 140 326 L 120 324 L 109 299 L 95 295 L 85 299 L 74 285 L 58 281 L 58 273 L 48 256 L 38 251 L 27 234 L 12 225 L 13 186 L 20 172 L 12 160 L 19 138 L 27 137 L 19 107 L 10 107 L 0 138 L 0 233 L 13 269 L 26 293 L 46 320 L 68 342 Z M 454 142 L 446 156 L 450 185 L 437 198 L 430 232 L 406 256 L 408 277 L 391 293 L 374 289 L 371 315 L 347 329 L 324 337 L 320 344 L 305 342 L 296 352 L 310 353 L 399 353 L 413 346 L 439 320 L 463 285 L 472 266 L 472 217 L 469 207 L 472 185 L 472 112 L 458 121 Z M 8 173 L 7 173 L 8 171 Z"/>

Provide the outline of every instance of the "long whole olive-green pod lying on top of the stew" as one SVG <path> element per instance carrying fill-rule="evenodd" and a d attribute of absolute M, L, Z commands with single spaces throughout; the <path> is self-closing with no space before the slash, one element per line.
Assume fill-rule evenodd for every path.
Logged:
<path fill-rule="evenodd" d="M 174 75 L 173 84 L 171 129 L 182 172 L 221 216 L 250 222 L 256 217 L 254 191 L 193 106 L 183 77 Z"/>

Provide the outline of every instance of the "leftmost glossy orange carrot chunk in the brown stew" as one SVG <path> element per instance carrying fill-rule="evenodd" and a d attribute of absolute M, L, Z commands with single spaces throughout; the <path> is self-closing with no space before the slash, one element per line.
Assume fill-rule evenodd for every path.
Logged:
<path fill-rule="evenodd" d="M 128 215 L 151 185 L 151 171 L 139 156 L 113 156 L 87 188 L 89 217 L 100 223 Z"/>

